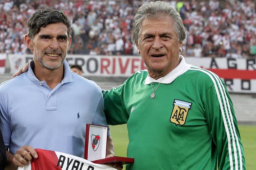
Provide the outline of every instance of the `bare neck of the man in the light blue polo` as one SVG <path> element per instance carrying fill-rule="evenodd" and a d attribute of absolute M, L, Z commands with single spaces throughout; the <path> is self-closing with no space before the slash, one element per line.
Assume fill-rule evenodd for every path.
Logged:
<path fill-rule="evenodd" d="M 35 62 L 33 72 L 39 81 L 45 81 L 50 89 L 54 89 L 63 80 L 64 66 L 61 64 L 56 69 L 48 69 Z"/>

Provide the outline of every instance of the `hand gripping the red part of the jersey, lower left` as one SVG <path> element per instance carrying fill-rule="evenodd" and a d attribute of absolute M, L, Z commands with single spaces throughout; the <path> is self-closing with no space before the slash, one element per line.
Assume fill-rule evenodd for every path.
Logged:
<path fill-rule="evenodd" d="M 17 166 L 24 167 L 28 161 L 31 161 L 33 158 L 37 157 L 37 153 L 32 146 L 24 145 L 22 148 L 17 150 L 17 153 L 14 155 L 12 162 Z"/>

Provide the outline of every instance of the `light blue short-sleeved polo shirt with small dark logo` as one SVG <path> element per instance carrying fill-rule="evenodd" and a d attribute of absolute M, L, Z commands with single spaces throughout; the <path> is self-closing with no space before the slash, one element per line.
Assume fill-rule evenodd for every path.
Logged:
<path fill-rule="evenodd" d="M 86 124 L 107 125 L 101 89 L 71 72 L 53 90 L 29 70 L 0 85 L 0 128 L 12 154 L 23 145 L 84 157 Z M 109 135 L 109 133 L 108 133 Z"/>

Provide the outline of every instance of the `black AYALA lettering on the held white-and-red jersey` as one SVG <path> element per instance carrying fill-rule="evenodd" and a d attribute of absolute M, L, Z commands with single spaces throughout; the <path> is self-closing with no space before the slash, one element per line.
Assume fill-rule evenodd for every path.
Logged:
<path fill-rule="evenodd" d="M 60 166 L 60 168 L 63 168 L 63 166 L 65 165 L 64 167 L 66 167 L 66 170 L 68 170 L 68 168 L 72 164 L 71 170 L 82 170 L 83 169 L 83 166 L 84 166 L 83 162 L 79 162 L 78 160 L 74 160 L 69 157 L 67 157 L 67 161 L 65 161 L 65 160 L 66 160 L 66 156 L 60 155 L 56 166 L 57 167 Z M 94 167 L 89 165 L 87 167 L 87 170 L 94 170 Z"/>

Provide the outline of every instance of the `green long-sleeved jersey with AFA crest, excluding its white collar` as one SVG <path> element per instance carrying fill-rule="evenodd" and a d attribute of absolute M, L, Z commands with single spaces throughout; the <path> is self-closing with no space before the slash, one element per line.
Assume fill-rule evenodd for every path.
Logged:
<path fill-rule="evenodd" d="M 246 169 L 233 104 L 216 74 L 189 65 L 168 84 L 145 84 L 147 77 L 138 71 L 102 91 L 108 124 L 127 123 L 127 170 Z"/>

